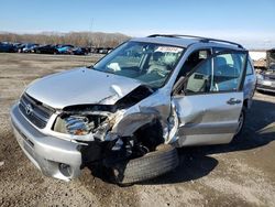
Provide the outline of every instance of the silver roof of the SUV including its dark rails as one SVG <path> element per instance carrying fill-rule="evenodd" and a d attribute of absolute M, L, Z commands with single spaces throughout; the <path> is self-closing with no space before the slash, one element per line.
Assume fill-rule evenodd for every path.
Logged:
<path fill-rule="evenodd" d="M 147 37 L 133 39 L 132 41 L 169 44 L 169 45 L 180 46 L 180 47 L 187 47 L 196 43 L 212 43 L 216 46 L 224 46 L 224 47 L 231 47 L 231 48 L 233 47 L 233 48 L 243 50 L 243 46 L 241 44 L 238 44 L 234 42 L 202 37 L 202 36 L 194 36 L 194 35 L 153 34 Z"/>

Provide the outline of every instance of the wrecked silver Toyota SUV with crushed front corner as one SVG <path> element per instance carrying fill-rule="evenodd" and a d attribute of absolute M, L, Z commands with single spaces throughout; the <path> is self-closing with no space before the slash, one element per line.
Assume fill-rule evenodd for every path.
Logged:
<path fill-rule="evenodd" d="M 33 81 L 11 121 L 43 174 L 69 181 L 88 166 L 129 184 L 175 168 L 176 148 L 238 137 L 255 81 L 240 44 L 155 34 Z"/>

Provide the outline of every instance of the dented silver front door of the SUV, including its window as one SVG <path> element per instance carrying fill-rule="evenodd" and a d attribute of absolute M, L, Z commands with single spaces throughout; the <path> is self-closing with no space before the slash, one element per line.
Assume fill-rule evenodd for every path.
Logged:
<path fill-rule="evenodd" d="M 176 87 L 172 102 L 178 117 L 178 145 L 228 143 L 243 106 L 248 52 L 211 55 Z M 180 79 L 180 78 L 179 78 Z"/>

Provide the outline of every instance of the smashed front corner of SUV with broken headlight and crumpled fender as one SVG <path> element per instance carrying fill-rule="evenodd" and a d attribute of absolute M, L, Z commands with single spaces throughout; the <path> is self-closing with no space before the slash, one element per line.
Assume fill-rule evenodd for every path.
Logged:
<path fill-rule="evenodd" d="M 114 105 L 99 101 L 98 105 L 65 107 L 52 130 L 81 143 L 78 149 L 82 156 L 81 167 L 98 163 L 109 166 L 142 156 L 164 142 L 160 121 L 163 112 L 160 110 L 164 106 L 161 106 L 163 101 L 152 102 L 154 98 L 150 96 L 153 92 L 151 88 L 140 86 Z"/>

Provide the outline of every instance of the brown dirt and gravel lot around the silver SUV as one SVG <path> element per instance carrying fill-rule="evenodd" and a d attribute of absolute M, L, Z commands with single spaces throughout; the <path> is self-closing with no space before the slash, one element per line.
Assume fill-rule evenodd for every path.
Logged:
<path fill-rule="evenodd" d="M 257 92 L 241 139 L 180 149 L 180 166 L 154 181 L 122 188 L 89 170 L 70 183 L 43 176 L 13 137 L 9 108 L 33 79 L 97 58 L 0 54 L 0 206 L 275 206 L 275 96 Z"/>

